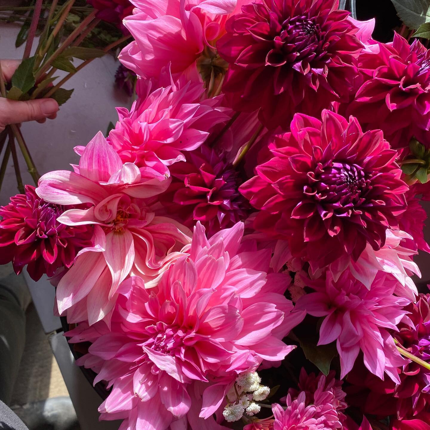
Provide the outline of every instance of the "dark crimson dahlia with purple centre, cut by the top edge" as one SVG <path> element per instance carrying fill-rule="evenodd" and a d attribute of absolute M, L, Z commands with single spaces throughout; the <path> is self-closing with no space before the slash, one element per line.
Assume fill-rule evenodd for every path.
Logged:
<path fill-rule="evenodd" d="M 230 65 L 223 90 L 268 128 L 346 99 L 362 44 L 338 0 L 262 0 L 242 6 L 217 44 Z"/>

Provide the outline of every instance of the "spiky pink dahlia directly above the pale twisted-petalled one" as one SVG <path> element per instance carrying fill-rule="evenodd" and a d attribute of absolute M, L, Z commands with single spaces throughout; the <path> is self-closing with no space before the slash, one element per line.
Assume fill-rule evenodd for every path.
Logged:
<path fill-rule="evenodd" d="M 169 166 L 185 161 L 183 152 L 198 148 L 212 127 L 229 118 L 218 98 L 203 99 L 200 82 L 176 82 L 152 93 L 150 84 L 139 87 L 141 98 L 130 111 L 117 108 L 119 121 L 108 141 L 123 162 L 134 163 L 149 175 L 170 176 Z"/>

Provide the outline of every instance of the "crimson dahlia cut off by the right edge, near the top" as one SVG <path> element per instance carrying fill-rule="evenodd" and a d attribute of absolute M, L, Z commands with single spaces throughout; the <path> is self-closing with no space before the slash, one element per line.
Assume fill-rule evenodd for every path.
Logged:
<path fill-rule="evenodd" d="M 394 148 L 405 148 L 412 136 L 430 144 L 430 53 L 418 39 L 409 45 L 399 34 L 362 53 L 365 79 L 347 108 L 366 129 L 381 128 Z"/>

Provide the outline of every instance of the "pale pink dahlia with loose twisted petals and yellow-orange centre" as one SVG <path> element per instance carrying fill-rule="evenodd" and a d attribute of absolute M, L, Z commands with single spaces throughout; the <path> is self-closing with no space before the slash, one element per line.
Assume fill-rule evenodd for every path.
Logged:
<path fill-rule="evenodd" d="M 68 322 L 90 324 L 109 314 L 120 283 L 141 275 L 147 287 L 178 258 L 191 232 L 176 221 L 155 216 L 144 201 L 164 189 L 158 179 L 141 183 L 135 164 L 123 164 L 101 133 L 83 149 L 75 172 L 58 170 L 39 180 L 37 194 L 46 201 L 88 209 L 69 209 L 58 217 L 67 226 L 94 225 L 92 244 L 77 255 L 57 287 L 58 312 Z M 88 299 L 88 300 L 86 300 Z M 77 306 L 75 306 L 77 305 Z"/>

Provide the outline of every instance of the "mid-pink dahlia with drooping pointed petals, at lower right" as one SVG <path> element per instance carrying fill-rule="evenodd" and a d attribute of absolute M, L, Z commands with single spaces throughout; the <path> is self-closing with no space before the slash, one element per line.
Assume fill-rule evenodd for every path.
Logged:
<path fill-rule="evenodd" d="M 360 350 L 364 364 L 381 379 L 384 372 L 399 383 L 397 367 L 404 360 L 397 352 L 388 330 L 398 331 L 397 324 L 407 311 L 409 300 L 393 295 L 395 282 L 379 272 L 370 290 L 348 271 L 337 282 L 330 273 L 308 282 L 315 292 L 296 303 L 312 316 L 325 317 L 319 329 L 319 345 L 336 341 L 341 359 L 341 379 L 353 368 Z"/>

